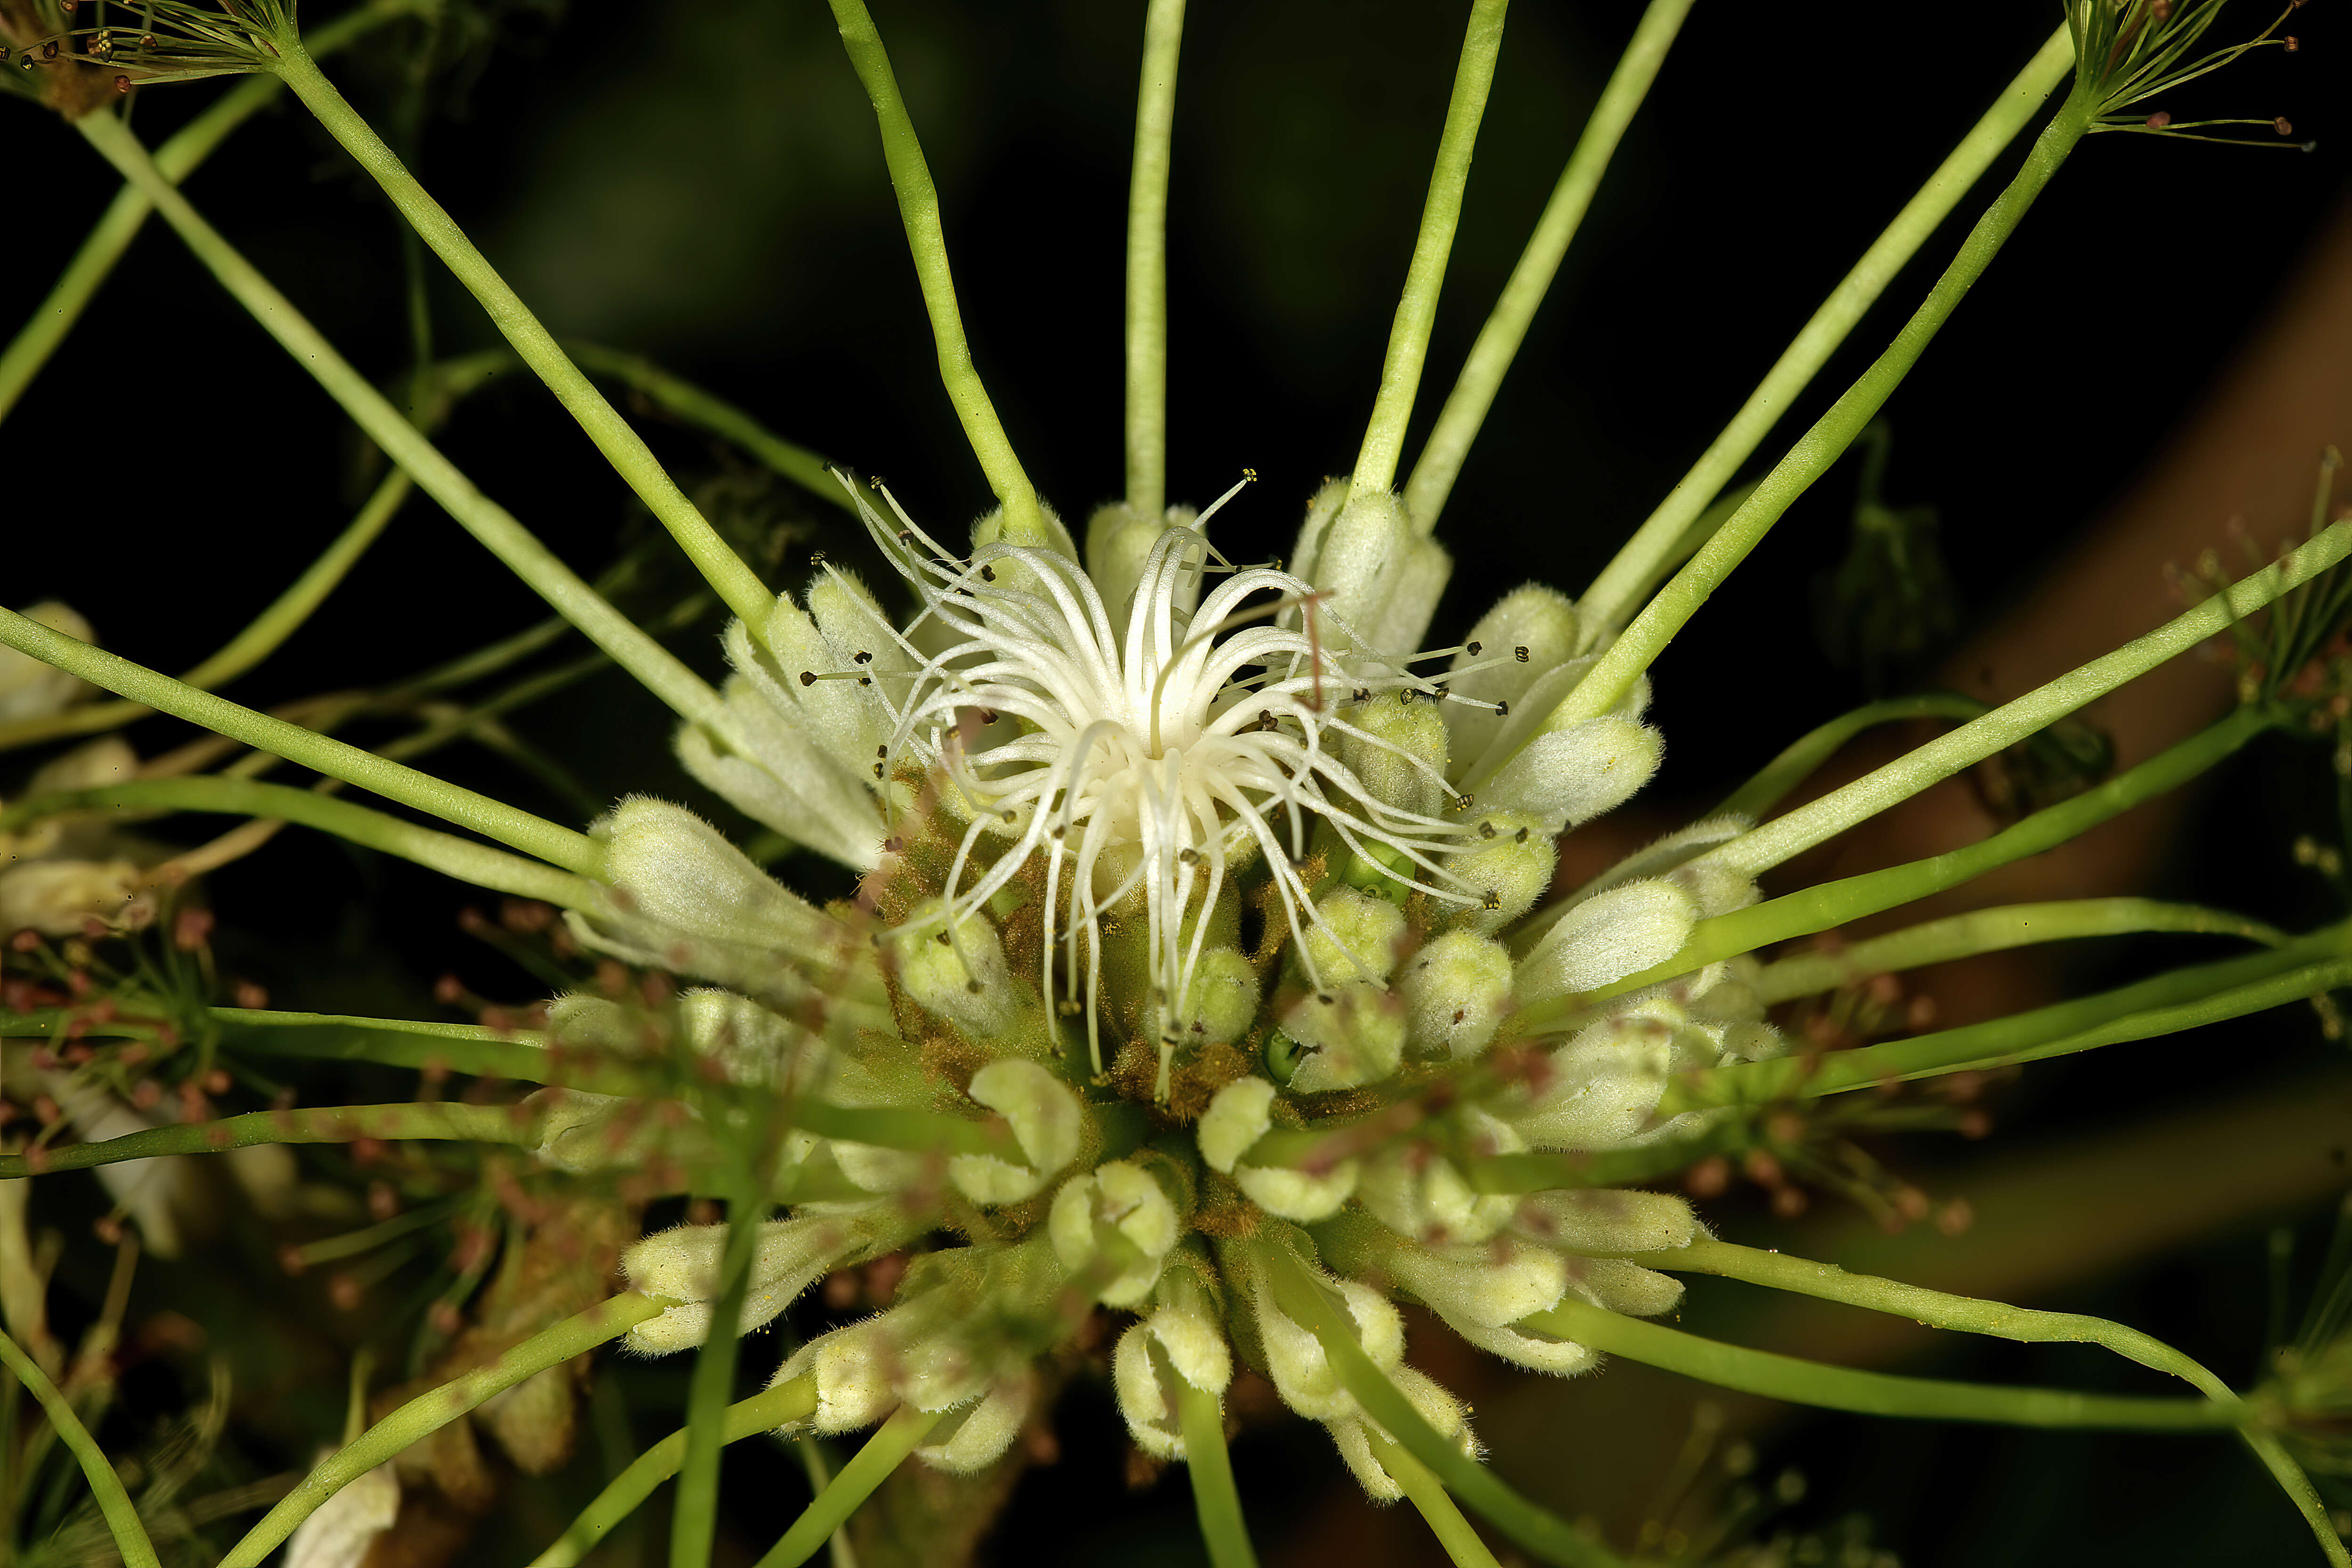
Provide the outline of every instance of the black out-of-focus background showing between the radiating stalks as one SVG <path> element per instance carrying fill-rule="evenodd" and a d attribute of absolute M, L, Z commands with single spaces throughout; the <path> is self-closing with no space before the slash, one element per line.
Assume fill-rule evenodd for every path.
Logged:
<path fill-rule="evenodd" d="M 1515 7 L 1416 442 L 1637 9 Z M 2020 592 L 2161 449 L 2343 200 L 2352 75 L 2338 9 L 2314 5 L 2293 19 L 2300 54 L 2263 52 L 2166 103 L 2176 118 L 2286 115 L 2298 141 L 2319 139 L 2317 153 L 2091 139 L 1891 402 L 1889 498 L 1940 510 L 1964 625 Z M 1141 5 L 887 0 L 877 21 L 941 186 L 978 367 L 1033 480 L 1082 527 L 1122 482 L 1120 256 Z M 1458 571 L 1437 635 L 1458 632 L 1517 581 L 1585 583 L 2053 21 L 2046 5 L 1700 5 L 1454 491 L 1442 536 Z M 2218 35 L 2263 21 L 2246 9 Z M 1192 7 L 1171 193 L 1169 494 L 1207 501 L 1256 468 L 1263 482 L 1221 520 L 1237 557 L 1287 552 L 1303 498 L 1355 456 L 1458 28 L 1454 5 Z M 581 0 L 562 21 L 510 14 L 503 42 L 475 63 L 463 92 L 445 78 L 419 167 L 557 334 L 649 353 L 774 430 L 889 475 L 936 529 L 953 531 L 988 503 L 938 390 L 873 115 L 821 5 Z M 365 110 L 388 113 L 390 71 L 367 61 L 329 71 Z M 212 92 L 148 92 L 136 125 L 160 139 Z M 0 292 L 21 315 L 113 179 L 24 103 L 0 108 L 0 148 L 9 167 Z M 1780 442 L 1886 341 L 1992 188 L 1966 200 L 1893 284 L 1780 425 Z M 266 113 L 188 190 L 365 371 L 386 381 L 405 371 L 395 219 L 303 115 Z M 430 280 L 437 353 L 492 343 L 470 299 L 437 268 Z M 652 414 L 640 423 L 689 489 L 741 468 Z M 0 597 L 66 597 L 108 646 L 162 668 L 223 642 L 362 494 L 360 454 L 334 407 L 160 226 L 0 442 Z M 468 404 L 445 447 L 583 569 L 647 527 L 536 388 L 506 386 Z M 1755 468 L 1776 451 L 1766 442 Z M 1672 738 L 1661 799 L 1700 804 L 1860 698 L 1809 621 L 1809 583 L 1842 550 L 1851 484 L 1846 465 L 1806 496 L 1658 663 L 1653 715 Z M 833 527 L 790 494 L 762 505 Z M 797 578 L 795 562 L 783 581 Z M 268 705 L 383 682 L 536 614 L 503 569 L 412 501 L 318 621 L 235 693 Z M 680 646 L 715 672 L 708 632 L 715 625 Z M 517 729 L 597 795 L 701 799 L 668 762 L 663 717 L 621 677 L 588 682 Z M 158 748 L 172 741 L 160 724 L 136 733 Z M 2169 870 L 2171 891 L 2277 919 L 2326 917 L 2324 889 L 2286 860 L 2298 825 L 2326 830 L 2324 816 L 2296 816 L 2319 795 L 2321 766 L 2288 748 L 2239 766 Z M 435 769 L 569 813 L 494 759 L 449 752 Z M 301 907 L 285 896 L 296 879 L 308 889 Z M 350 1004 L 362 966 L 386 1006 L 423 1006 L 414 997 L 449 969 L 487 994 L 529 994 L 456 933 L 447 884 L 329 844 L 287 835 L 219 877 L 214 900 L 223 926 L 252 943 L 245 966 L 280 999 L 332 992 L 367 1011 Z M 2018 1107 L 2016 1138 L 2032 1147 L 2060 1126 L 2194 1098 L 2223 1051 L 2256 1058 L 2260 1072 L 2310 1067 L 2324 1046 L 2298 1013 L 2230 1044 L 2159 1048 L 2133 1058 L 2131 1072 L 2053 1067 Z M 1936 1159 L 1917 1157 L 1926 1168 Z M 1726 1215 L 1736 1225 L 1738 1211 Z M 2046 1305 L 2176 1333 L 2241 1378 L 2265 1312 L 2258 1218 L 2197 1255 L 2074 1281 L 2074 1298 Z M 1971 1349 L 1938 1371 L 2084 1387 L 2105 1375 L 2089 1356 L 2020 1354 Z M 1665 1378 L 1653 1387 L 1658 1401 L 1691 1396 Z M 1583 1396 L 1583 1385 L 1562 1392 Z M 1063 1460 L 1016 1500 L 997 1561 L 1174 1563 L 1197 1552 L 1181 1481 L 1143 1497 L 1122 1490 L 1122 1436 L 1103 1396 L 1073 1394 L 1061 1429 Z M 1611 1441 L 1609 1427 L 1585 1436 Z M 1531 1476 L 1545 1455 L 1503 1460 Z M 753 1462 L 767 1460 L 739 1450 L 736 1497 L 762 1490 Z M 1244 1439 L 1237 1462 L 1261 1540 L 1277 1554 L 1287 1521 L 1331 1528 L 1319 1509 L 1345 1479 L 1319 1434 Z M 2253 1462 L 2218 1439 L 2044 1439 L 1818 1418 L 1766 1439 L 1764 1474 L 1783 1462 L 1813 1483 L 1790 1519 L 1818 1526 L 1867 1509 L 1907 1563 L 2310 1554 Z M 1576 1495 L 1573 1481 L 1562 1500 L 1592 1512 L 1618 1502 Z M 774 1507 L 795 1505 L 779 1495 Z M 1418 1523 L 1390 1512 L 1378 1533 L 1414 1542 Z M 1291 1549 L 1296 1561 L 1322 1556 L 1310 1537 Z"/>

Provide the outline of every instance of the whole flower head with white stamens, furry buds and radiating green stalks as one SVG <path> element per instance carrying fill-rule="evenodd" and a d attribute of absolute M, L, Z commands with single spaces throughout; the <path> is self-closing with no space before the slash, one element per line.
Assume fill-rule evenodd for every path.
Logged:
<path fill-rule="evenodd" d="M 2314 527 L 2284 559 L 2004 708 L 1938 698 L 1830 726 L 1726 811 L 1548 900 L 1562 835 L 1625 804 L 1661 764 L 1665 736 L 1649 722 L 1661 649 L 1860 435 L 2070 150 L 2093 129 L 2117 129 L 2114 115 L 2147 92 L 2241 47 L 2190 59 L 2218 12 L 2211 2 L 2070 0 L 2072 52 L 2060 40 L 2042 49 L 1759 400 L 1778 407 L 1802 388 L 2072 61 L 2072 85 L 2023 169 L 1893 343 L 1693 541 L 1689 564 L 1639 604 L 1764 437 L 1769 418 L 1755 409 L 1583 602 L 1524 585 L 1454 637 L 1432 632 L 1451 574 L 1432 538 L 1437 510 L 1689 7 L 1658 0 L 1644 19 L 1423 465 L 1397 494 L 1503 9 L 1501 0 L 1470 7 L 1357 468 L 1308 498 L 1284 562 L 1254 562 L 1221 545 L 1221 517 L 1254 501 L 1254 475 L 1200 510 L 1169 505 L 1164 494 L 1167 146 L 1183 7 L 1155 0 L 1145 16 L 1124 501 L 1073 534 L 1037 496 L 981 383 L 938 193 L 875 21 L 858 0 L 835 0 L 880 120 L 943 388 L 997 508 L 955 536 L 910 515 L 880 480 L 833 468 L 828 501 L 856 515 L 873 569 L 861 576 L 849 559 L 814 559 L 804 585 L 783 595 L 720 538 L 327 82 L 289 12 L 158 0 L 155 35 L 71 33 L 73 61 L 118 61 L 132 85 L 266 71 L 360 158 L 727 604 L 729 675 L 717 691 L 564 569 L 343 362 L 174 188 L 179 165 L 148 158 L 108 113 L 82 118 L 87 141 L 383 454 L 675 710 L 677 759 L 701 785 L 769 830 L 774 846 L 823 856 L 856 879 L 847 898 L 804 896 L 696 811 L 652 797 L 621 799 L 574 832 L 198 689 L 235 672 L 226 665 L 172 682 L 92 646 L 71 611 L 0 611 L 0 644 L 14 651 L 0 663 L 0 719 L 59 719 L 75 696 L 71 682 L 89 682 L 496 846 L 230 773 L 47 776 L 0 809 L 0 835 L 129 811 L 299 823 L 543 900 L 562 912 L 572 952 L 619 976 L 689 983 L 682 992 L 579 987 L 553 999 L 546 1027 L 532 1032 L 209 1009 L 198 1013 L 207 1030 L 259 1056 L 430 1060 L 543 1088 L 513 1105 L 191 1117 L 0 1154 L 0 1180 L 14 1180 L 254 1143 L 468 1140 L 529 1157 L 534 1180 L 609 1178 L 630 1182 L 637 1199 L 680 1190 L 724 1199 L 724 1222 L 616 1246 L 621 1295 L 360 1434 L 228 1563 L 259 1563 L 336 1488 L 612 1340 L 647 1356 L 696 1354 L 687 1427 L 621 1472 L 539 1561 L 579 1561 L 661 1476 L 677 1474 L 670 1561 L 699 1568 L 713 1552 L 724 1441 L 755 1425 L 793 1436 L 873 1429 L 762 1559 L 797 1563 L 901 1462 L 971 1474 L 1002 1460 L 1042 1420 L 1056 1356 L 1065 1363 L 1089 1324 L 1115 1328 L 1110 1394 L 1136 1448 L 1192 1467 L 1218 1568 L 1251 1561 L 1225 1453 L 1225 1396 L 1242 1371 L 1319 1422 L 1369 1497 L 1411 1500 L 1456 1563 L 1494 1561 L 1456 1502 L 1543 1561 L 1618 1561 L 1479 1462 L 1470 1408 L 1406 1359 L 1399 1302 L 1491 1356 L 1559 1378 L 1625 1354 L 1846 1410 L 2241 1432 L 2314 1519 L 2331 1561 L 2352 1561 L 2265 1427 L 2277 1406 L 2239 1399 L 2145 1335 L 2077 1319 L 2065 1335 L 2051 1331 L 2180 1373 L 2197 1396 L 1891 1378 L 1651 1324 L 1679 1305 L 1677 1272 L 1811 1293 L 1846 1286 L 1757 1267 L 1712 1239 L 1684 1197 L 1630 1185 L 1696 1164 L 1792 1098 L 2093 1048 L 2343 985 L 2352 969 L 2340 929 L 2286 938 L 2204 910 L 2079 900 L 1931 922 L 1877 938 L 1853 961 L 1891 971 L 2110 931 L 2234 931 L 2263 952 L 1828 1060 L 1792 1051 L 1769 1016 L 1776 1001 L 1849 978 L 1832 957 L 1766 966 L 1759 950 L 1769 943 L 1957 886 L 2176 788 L 2265 729 L 2310 724 L 2326 705 L 2284 684 L 2286 670 L 2272 670 L 2206 736 L 1969 851 L 1773 900 L 1757 877 L 2270 607 L 2284 604 L 2272 611 L 2286 628 L 2277 646 L 2305 665 L 2324 644 L 2312 628 L 2340 623 L 2338 567 L 2352 552 L 2352 524 Z M 590 362 L 614 364 L 609 355 Z M 637 367 L 630 378 L 647 386 L 654 374 Z M 668 402 L 739 421 L 691 388 L 670 388 Z M 774 449 L 779 468 L 816 477 L 804 451 Z M 348 567 L 346 555 L 334 571 Z M 273 614 L 273 635 L 322 592 L 313 583 Z M 1755 820 L 1853 729 L 1922 712 L 1966 722 L 1799 811 Z M 59 719 L 42 733 L 68 729 Z M 0 900 L 9 886 L 31 886 L 14 882 L 26 870 L 0 872 Z M 49 900 L 54 919 L 26 924 L 73 933 L 103 912 L 87 886 L 49 889 Z M 2037 919 L 2042 929 L 2027 936 Z M 26 1009 L 9 1032 L 87 1032 L 89 1020 L 68 1013 Z M 739 1340 L 783 1319 L 816 1281 L 898 1255 L 908 1262 L 884 1309 L 788 1349 L 764 1396 L 729 1403 Z M 1886 1281 L 1856 1288 L 1870 1305 L 1900 1300 L 1952 1328 L 1983 1331 L 1987 1314 L 2006 1321 L 1990 1302 L 1903 1295 Z M 2051 1326 L 2037 1319 L 2034 1328 Z M 80 1448 L 78 1458 L 87 1462 Z M 111 1516 L 118 1493 L 99 1486 Z"/>

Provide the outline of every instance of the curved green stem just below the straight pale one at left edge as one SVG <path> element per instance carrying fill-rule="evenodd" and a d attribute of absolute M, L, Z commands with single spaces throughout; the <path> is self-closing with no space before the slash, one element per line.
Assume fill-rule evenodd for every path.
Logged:
<path fill-rule="evenodd" d="M 593 882 L 560 872 L 553 865 L 524 860 L 503 849 L 435 832 L 419 823 L 405 823 L 397 816 L 369 811 L 367 806 L 320 795 L 318 790 L 254 783 L 252 778 L 139 778 L 101 790 L 40 795 L 0 811 L 0 832 L 45 816 L 75 811 L 223 811 L 230 816 L 278 818 L 332 832 L 350 844 L 381 849 L 388 856 L 414 860 L 416 865 L 496 893 L 543 898 L 569 910 L 590 910 L 602 900 Z"/>

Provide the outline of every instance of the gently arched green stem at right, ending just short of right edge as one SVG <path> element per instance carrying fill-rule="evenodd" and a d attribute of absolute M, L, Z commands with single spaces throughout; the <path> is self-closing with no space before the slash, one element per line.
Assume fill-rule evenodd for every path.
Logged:
<path fill-rule="evenodd" d="M 1792 959 L 1766 964 L 1764 973 L 1757 976 L 1757 997 L 1771 1006 L 1790 997 L 1811 997 L 1839 985 L 1856 985 L 1870 976 L 1973 959 L 1983 952 L 2140 931 L 2241 936 L 2272 947 L 2286 940 L 2281 931 L 2244 914 L 2204 910 L 2190 903 L 2159 903 L 2154 898 L 2011 903 L 1997 910 L 1969 910 L 1966 914 L 1922 922 L 1865 943 L 1853 943 L 1851 947 L 1799 952 Z"/>

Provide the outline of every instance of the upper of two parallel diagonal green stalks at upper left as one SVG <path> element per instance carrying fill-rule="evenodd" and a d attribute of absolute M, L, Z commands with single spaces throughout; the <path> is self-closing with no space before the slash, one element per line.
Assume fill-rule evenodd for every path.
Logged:
<path fill-rule="evenodd" d="M 727 541 L 717 536 L 710 522 L 687 501 L 687 494 L 677 489 L 677 482 L 670 480 L 661 458 L 644 444 L 644 437 L 621 418 L 604 400 L 604 393 L 595 390 L 595 383 L 588 381 L 581 367 L 564 357 L 564 350 L 555 346 L 553 334 L 539 324 L 529 306 L 499 277 L 499 270 L 489 266 L 489 259 L 475 249 L 473 240 L 466 237 L 466 230 L 456 226 L 442 205 L 416 183 L 407 165 L 383 143 L 383 136 L 343 101 L 343 94 L 334 89 L 334 82 L 327 80 L 327 73 L 318 68 L 318 61 L 310 59 L 310 52 L 301 47 L 301 40 L 292 31 L 278 38 L 273 71 L 303 101 L 303 108 L 318 115 L 327 134 L 341 141 L 343 150 L 360 160 L 360 167 L 383 186 L 383 195 L 393 197 L 393 207 L 433 247 L 433 254 L 447 263 L 456 280 L 482 301 L 482 310 L 489 313 L 492 324 L 515 346 L 522 362 L 548 383 L 548 390 L 579 421 L 614 473 L 637 491 L 637 498 L 670 531 L 670 538 L 687 552 L 694 569 L 727 599 L 727 609 L 757 632 L 767 623 L 776 595 L 727 548 Z"/>

